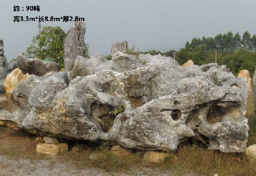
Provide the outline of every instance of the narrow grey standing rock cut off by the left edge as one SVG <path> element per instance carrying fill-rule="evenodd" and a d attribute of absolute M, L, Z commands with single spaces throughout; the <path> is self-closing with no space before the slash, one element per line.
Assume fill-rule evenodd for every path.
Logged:
<path fill-rule="evenodd" d="M 8 72 L 8 62 L 4 55 L 4 41 L 0 38 L 0 93 L 4 93 L 4 82 Z"/>

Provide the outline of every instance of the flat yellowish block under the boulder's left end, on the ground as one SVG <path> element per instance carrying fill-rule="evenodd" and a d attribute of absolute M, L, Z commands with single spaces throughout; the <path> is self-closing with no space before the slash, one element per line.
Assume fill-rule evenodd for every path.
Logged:
<path fill-rule="evenodd" d="M 61 155 L 68 152 L 69 146 L 66 143 L 60 144 L 47 144 L 47 143 L 38 143 L 36 145 L 37 154 L 45 154 L 50 156 Z"/>

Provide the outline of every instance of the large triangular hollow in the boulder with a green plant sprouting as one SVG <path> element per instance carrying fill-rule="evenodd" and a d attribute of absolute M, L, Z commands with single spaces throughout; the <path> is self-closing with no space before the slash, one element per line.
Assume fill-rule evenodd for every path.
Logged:
<path fill-rule="evenodd" d="M 90 117 L 92 121 L 98 122 L 103 132 L 110 132 L 114 120 L 118 114 L 124 111 L 122 106 L 113 107 L 100 103 L 92 103 Z"/>

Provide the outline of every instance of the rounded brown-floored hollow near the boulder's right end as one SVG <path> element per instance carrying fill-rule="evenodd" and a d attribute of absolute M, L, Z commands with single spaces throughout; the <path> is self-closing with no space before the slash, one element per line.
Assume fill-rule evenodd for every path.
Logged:
<path fill-rule="evenodd" d="M 217 123 L 222 120 L 223 115 L 224 113 L 220 106 L 212 105 L 207 113 L 206 119 L 209 123 Z"/>

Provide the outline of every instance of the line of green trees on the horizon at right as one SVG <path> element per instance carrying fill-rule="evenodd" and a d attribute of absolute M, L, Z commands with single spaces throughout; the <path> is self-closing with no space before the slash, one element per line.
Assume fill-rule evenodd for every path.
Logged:
<path fill-rule="evenodd" d="M 194 37 L 191 42 L 187 41 L 184 48 L 180 51 L 174 49 L 167 52 L 150 50 L 140 52 L 142 54 L 151 54 L 174 58 L 181 65 L 187 60 L 193 60 L 196 65 L 203 65 L 215 62 L 215 50 L 217 49 L 217 63 L 227 65 L 230 71 L 237 76 L 240 70 L 247 69 L 250 77 L 253 77 L 256 64 L 256 35 L 252 37 L 248 31 L 245 31 L 240 37 L 239 33 L 233 35 L 218 34 L 215 37 Z"/>

